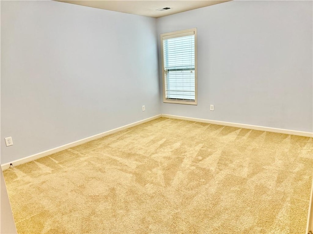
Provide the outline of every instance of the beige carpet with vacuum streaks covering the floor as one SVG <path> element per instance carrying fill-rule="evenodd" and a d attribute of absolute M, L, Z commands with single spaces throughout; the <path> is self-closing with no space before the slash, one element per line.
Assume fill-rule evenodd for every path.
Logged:
<path fill-rule="evenodd" d="M 313 140 L 158 118 L 4 171 L 20 234 L 304 234 Z"/>

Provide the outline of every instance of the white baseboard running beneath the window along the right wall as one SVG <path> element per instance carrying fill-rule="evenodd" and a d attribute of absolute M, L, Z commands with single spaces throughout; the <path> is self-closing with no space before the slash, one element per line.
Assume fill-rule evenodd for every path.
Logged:
<path fill-rule="evenodd" d="M 287 129 L 280 129 L 280 128 L 268 128 L 268 127 L 242 124 L 242 123 L 231 123 L 231 122 L 224 122 L 224 121 L 217 121 L 217 120 L 172 116 L 172 115 L 165 115 L 165 114 L 162 114 L 161 116 L 166 117 L 166 118 L 176 118 L 176 119 L 189 120 L 189 121 L 202 122 L 202 123 L 212 123 L 212 124 L 217 124 L 217 125 L 224 125 L 224 126 L 237 127 L 237 128 L 247 128 L 247 129 L 253 129 L 253 130 L 273 132 L 273 133 L 283 133 L 283 134 L 296 135 L 296 136 L 302 136 L 302 137 L 313 137 L 313 133 L 310 133 L 310 132 L 301 132 L 301 131 L 294 131 L 294 130 L 287 130 Z"/>

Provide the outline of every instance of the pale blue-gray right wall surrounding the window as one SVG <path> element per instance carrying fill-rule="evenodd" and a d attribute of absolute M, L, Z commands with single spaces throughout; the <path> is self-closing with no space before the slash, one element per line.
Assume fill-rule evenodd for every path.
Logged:
<path fill-rule="evenodd" d="M 157 19 L 198 29 L 198 106 L 162 114 L 313 132 L 312 18 L 312 1 L 231 1 Z"/>

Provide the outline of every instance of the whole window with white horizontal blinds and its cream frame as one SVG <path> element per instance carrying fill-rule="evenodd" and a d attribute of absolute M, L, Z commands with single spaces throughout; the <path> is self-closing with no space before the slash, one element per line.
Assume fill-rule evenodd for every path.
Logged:
<path fill-rule="evenodd" d="M 197 105 L 197 29 L 161 34 L 163 102 Z"/>

